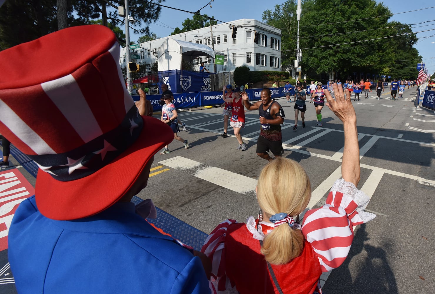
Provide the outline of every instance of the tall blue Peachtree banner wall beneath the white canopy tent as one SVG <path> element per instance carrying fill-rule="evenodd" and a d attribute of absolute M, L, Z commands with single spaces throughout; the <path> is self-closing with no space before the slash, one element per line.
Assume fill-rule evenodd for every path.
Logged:
<path fill-rule="evenodd" d="M 214 73 L 211 73 L 214 74 Z M 188 93 L 210 91 L 210 73 L 200 73 L 190 70 L 159 71 L 159 80 L 167 84 L 172 93 Z M 161 90 L 161 85 L 159 85 Z"/>

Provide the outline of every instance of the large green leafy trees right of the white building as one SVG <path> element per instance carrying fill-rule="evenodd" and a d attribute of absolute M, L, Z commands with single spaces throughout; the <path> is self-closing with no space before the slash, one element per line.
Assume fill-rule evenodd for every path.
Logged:
<path fill-rule="evenodd" d="M 282 31 L 281 64 L 288 68 L 296 59 L 296 8 L 295 0 L 287 0 L 263 13 L 263 21 Z M 305 0 L 299 30 L 302 71 L 323 79 L 330 72 L 343 80 L 385 72 L 416 77 L 414 61 L 396 61 L 418 59 L 415 33 L 409 25 L 389 22 L 390 17 L 388 7 L 375 0 Z"/>

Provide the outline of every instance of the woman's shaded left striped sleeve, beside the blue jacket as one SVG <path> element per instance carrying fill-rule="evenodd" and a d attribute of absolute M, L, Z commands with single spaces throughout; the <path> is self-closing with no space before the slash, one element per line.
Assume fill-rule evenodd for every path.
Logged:
<path fill-rule="evenodd" d="M 234 220 L 226 220 L 220 223 L 210 233 L 201 248 L 201 252 L 211 259 L 211 281 L 218 293 L 229 290 L 231 286 L 234 286 L 231 285 L 230 281 L 227 281 L 224 248 L 227 229 L 231 224 L 236 223 L 237 221 Z"/>

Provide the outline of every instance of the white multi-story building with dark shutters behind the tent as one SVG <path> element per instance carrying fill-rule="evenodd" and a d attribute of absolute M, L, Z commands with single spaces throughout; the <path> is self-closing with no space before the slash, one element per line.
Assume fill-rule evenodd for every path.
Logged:
<path fill-rule="evenodd" d="M 228 24 L 229 23 L 229 24 Z M 254 70 L 281 70 L 281 30 L 253 19 L 234 20 L 211 27 L 191 30 L 169 37 L 141 43 L 140 49 L 131 49 L 130 53 L 139 59 L 131 59 L 147 68 L 157 61 L 157 49 L 167 38 L 204 44 L 224 55 L 224 65 L 216 65 L 216 72 L 232 72 L 236 67 L 247 65 Z M 233 28 L 237 28 L 235 38 Z M 254 42 L 258 33 L 258 42 Z M 199 69 L 200 63 L 210 72 L 214 72 L 214 60 L 211 57 L 198 57 L 194 66 Z M 121 67 L 125 67 L 125 48 L 121 48 Z"/>

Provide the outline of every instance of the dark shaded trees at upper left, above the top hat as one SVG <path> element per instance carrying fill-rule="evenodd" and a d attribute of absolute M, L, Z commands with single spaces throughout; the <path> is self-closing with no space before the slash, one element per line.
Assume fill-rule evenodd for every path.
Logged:
<path fill-rule="evenodd" d="M 130 24 L 134 33 L 149 34 L 149 24 L 160 15 L 161 8 L 157 4 L 162 2 L 164 0 L 129 0 L 130 15 L 137 20 Z M 67 27 L 102 19 L 102 23 L 107 23 L 113 30 L 125 23 L 125 18 L 118 15 L 117 7 L 124 4 L 120 0 L 68 0 L 66 3 L 58 3 L 57 0 L 7 0 L 0 7 L 0 50 L 57 31 L 58 4 L 63 5 L 59 13 L 62 18 L 59 19 L 60 27 L 65 26 L 65 10 Z M 117 33 L 117 36 L 119 38 L 120 34 Z M 119 40 L 125 43 L 123 39 Z"/>

